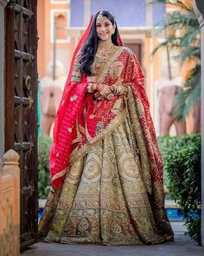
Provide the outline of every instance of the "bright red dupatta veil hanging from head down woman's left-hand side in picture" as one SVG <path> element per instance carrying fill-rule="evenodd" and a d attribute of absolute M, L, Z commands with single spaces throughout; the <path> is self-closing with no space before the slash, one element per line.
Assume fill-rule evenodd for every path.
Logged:
<path fill-rule="evenodd" d="M 61 186 L 63 176 L 66 174 L 69 154 L 71 153 L 72 149 L 71 146 L 74 135 L 73 125 L 77 116 L 80 114 L 83 105 L 82 102 L 84 102 L 87 87 L 86 77 L 83 77 L 82 82 L 80 83 L 71 82 L 71 77 L 73 72 L 73 62 L 82 44 L 86 41 L 91 26 L 92 18 L 73 53 L 69 74 L 67 76 L 67 82 L 65 84 L 63 95 L 61 97 L 61 103 L 54 121 L 53 144 L 50 149 L 50 175 L 51 185 L 54 189 Z M 72 97 L 74 97 L 76 101 L 72 101 Z M 89 98 L 90 97 L 88 97 L 86 101 Z"/>

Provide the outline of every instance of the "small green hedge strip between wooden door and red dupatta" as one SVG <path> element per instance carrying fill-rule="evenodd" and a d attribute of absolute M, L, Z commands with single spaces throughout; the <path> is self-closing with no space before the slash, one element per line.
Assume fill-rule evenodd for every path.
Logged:
<path fill-rule="evenodd" d="M 40 135 L 38 137 L 38 196 L 41 199 L 48 197 L 50 188 L 49 150 L 52 138 Z"/>

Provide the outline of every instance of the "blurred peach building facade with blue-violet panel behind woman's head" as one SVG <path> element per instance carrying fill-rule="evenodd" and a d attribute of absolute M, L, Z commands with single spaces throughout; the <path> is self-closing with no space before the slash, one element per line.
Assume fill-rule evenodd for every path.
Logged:
<path fill-rule="evenodd" d="M 161 54 L 152 57 L 157 44 L 152 35 L 153 25 L 162 20 L 165 6 L 150 5 L 150 0 L 41 0 L 38 2 L 38 72 L 46 75 L 49 62 L 54 57 L 63 63 L 67 74 L 73 50 L 92 14 L 97 10 L 110 10 L 116 17 L 124 46 L 135 52 L 146 76 L 146 90 L 150 99 L 151 115 L 158 132 L 158 111 L 156 105 L 156 81 L 160 75 L 158 62 Z M 56 30 L 54 33 L 54 20 Z M 55 35 L 55 43 L 54 43 Z M 55 44 L 55 50 L 54 50 Z"/>

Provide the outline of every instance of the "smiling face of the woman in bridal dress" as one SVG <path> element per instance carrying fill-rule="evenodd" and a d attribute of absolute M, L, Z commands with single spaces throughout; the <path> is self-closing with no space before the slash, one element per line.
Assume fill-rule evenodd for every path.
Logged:
<path fill-rule="evenodd" d="M 112 25 L 110 20 L 106 16 L 103 16 L 103 18 L 96 21 L 96 31 L 100 40 L 110 40 L 112 34 L 114 34 L 115 25 Z"/>

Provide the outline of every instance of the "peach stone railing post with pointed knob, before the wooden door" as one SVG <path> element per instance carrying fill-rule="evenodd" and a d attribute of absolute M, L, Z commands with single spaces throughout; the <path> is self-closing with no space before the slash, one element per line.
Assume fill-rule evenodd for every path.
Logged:
<path fill-rule="evenodd" d="M 0 255 L 20 254 L 19 155 L 10 149 L 0 161 Z"/>

